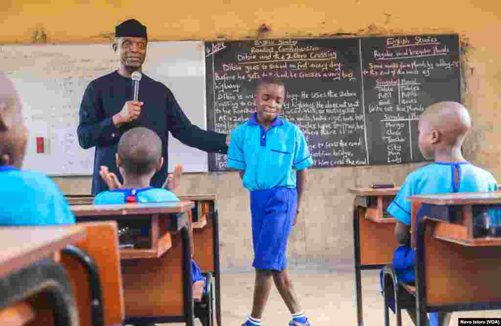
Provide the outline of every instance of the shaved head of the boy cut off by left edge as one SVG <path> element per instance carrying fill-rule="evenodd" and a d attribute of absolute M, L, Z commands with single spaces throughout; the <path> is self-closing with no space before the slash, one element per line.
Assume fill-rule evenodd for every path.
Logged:
<path fill-rule="evenodd" d="M 0 73 L 0 165 L 18 169 L 23 164 L 28 140 L 21 98 L 13 82 Z"/>

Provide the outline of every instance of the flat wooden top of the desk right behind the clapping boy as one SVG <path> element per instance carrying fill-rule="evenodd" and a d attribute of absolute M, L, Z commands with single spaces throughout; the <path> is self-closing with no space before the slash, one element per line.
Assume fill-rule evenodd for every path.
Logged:
<path fill-rule="evenodd" d="M 74 205 L 71 211 L 78 216 L 106 216 L 106 215 L 147 215 L 173 214 L 188 212 L 195 204 L 193 202 L 163 202 L 163 203 L 130 203 L 109 205 Z"/>

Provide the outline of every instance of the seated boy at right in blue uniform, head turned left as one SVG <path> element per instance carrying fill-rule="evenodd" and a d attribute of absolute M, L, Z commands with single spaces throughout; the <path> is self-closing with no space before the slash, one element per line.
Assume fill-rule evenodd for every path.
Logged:
<path fill-rule="evenodd" d="M 419 118 L 419 149 L 430 165 L 409 174 L 387 212 L 397 219 L 395 236 L 401 245 L 395 250 L 393 267 L 399 281 L 414 283 L 414 251 L 409 246 L 411 203 L 409 196 L 458 192 L 496 191 L 492 175 L 471 165 L 461 154 L 461 145 L 470 129 L 468 111 L 456 102 L 439 102 L 431 105 Z M 420 214 L 417 214 L 417 219 Z M 389 300 L 394 309 L 394 298 Z M 415 308 L 407 309 L 416 324 Z M 430 313 L 430 326 L 445 326 L 450 313 Z"/>

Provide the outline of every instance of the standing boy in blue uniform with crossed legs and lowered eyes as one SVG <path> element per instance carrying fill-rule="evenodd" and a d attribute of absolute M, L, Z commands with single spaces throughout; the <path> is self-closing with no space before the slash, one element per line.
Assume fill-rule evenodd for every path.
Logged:
<path fill-rule="evenodd" d="M 250 191 L 256 283 L 245 326 L 261 325 L 272 279 L 291 311 L 289 325 L 311 325 L 286 270 L 286 248 L 313 159 L 303 132 L 279 116 L 285 96 L 281 79 L 260 79 L 257 111 L 234 130 L 228 151 L 228 168 L 240 170 L 243 186 Z"/>

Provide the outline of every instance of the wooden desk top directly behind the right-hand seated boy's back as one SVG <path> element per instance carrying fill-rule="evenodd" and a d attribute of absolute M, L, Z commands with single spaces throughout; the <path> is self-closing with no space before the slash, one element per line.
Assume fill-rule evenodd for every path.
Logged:
<path fill-rule="evenodd" d="M 420 195 L 411 196 L 408 200 L 434 205 L 492 205 L 501 204 L 501 192 Z"/>

